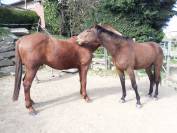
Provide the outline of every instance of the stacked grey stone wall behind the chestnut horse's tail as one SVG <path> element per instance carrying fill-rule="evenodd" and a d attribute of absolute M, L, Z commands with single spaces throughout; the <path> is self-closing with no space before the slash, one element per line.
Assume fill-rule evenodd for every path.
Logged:
<path fill-rule="evenodd" d="M 15 40 L 17 37 L 13 34 L 0 36 L 0 76 L 15 71 Z"/>

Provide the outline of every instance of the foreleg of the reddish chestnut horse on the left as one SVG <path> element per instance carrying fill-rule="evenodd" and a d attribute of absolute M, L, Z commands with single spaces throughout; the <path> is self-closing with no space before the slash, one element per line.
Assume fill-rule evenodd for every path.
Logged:
<path fill-rule="evenodd" d="M 87 95 L 87 91 L 86 91 L 87 72 L 88 72 L 88 66 L 81 66 L 81 68 L 79 70 L 80 84 L 81 84 L 80 93 L 81 93 L 82 97 L 88 102 L 90 99 L 89 99 L 89 97 Z"/>

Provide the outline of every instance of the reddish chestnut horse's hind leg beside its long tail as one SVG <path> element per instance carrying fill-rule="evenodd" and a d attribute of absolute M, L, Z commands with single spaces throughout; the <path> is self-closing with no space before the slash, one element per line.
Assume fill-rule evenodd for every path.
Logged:
<path fill-rule="evenodd" d="M 30 114 L 36 114 L 36 111 L 32 107 L 34 103 L 30 96 L 30 88 L 32 81 L 36 75 L 37 69 L 26 69 L 25 77 L 23 79 L 24 94 L 25 94 L 25 105 L 29 109 Z"/>

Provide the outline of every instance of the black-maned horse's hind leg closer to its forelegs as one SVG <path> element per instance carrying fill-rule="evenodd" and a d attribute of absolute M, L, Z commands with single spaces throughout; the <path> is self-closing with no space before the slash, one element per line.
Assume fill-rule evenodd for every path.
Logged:
<path fill-rule="evenodd" d="M 153 86 L 154 86 L 154 75 L 152 73 L 152 66 L 149 68 L 146 68 L 146 73 L 149 77 L 149 81 L 150 81 L 150 88 L 149 88 L 149 96 L 152 96 L 152 92 L 153 92 Z"/>

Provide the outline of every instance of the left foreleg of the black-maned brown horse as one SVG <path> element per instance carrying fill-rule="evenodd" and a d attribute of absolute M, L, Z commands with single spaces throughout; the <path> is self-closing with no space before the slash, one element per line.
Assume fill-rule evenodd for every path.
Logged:
<path fill-rule="evenodd" d="M 122 85 L 121 102 L 124 103 L 125 102 L 125 97 L 126 97 L 125 74 L 124 74 L 123 71 L 119 71 L 119 70 L 118 70 L 118 74 L 119 74 L 120 82 L 121 82 L 121 85 Z"/>

